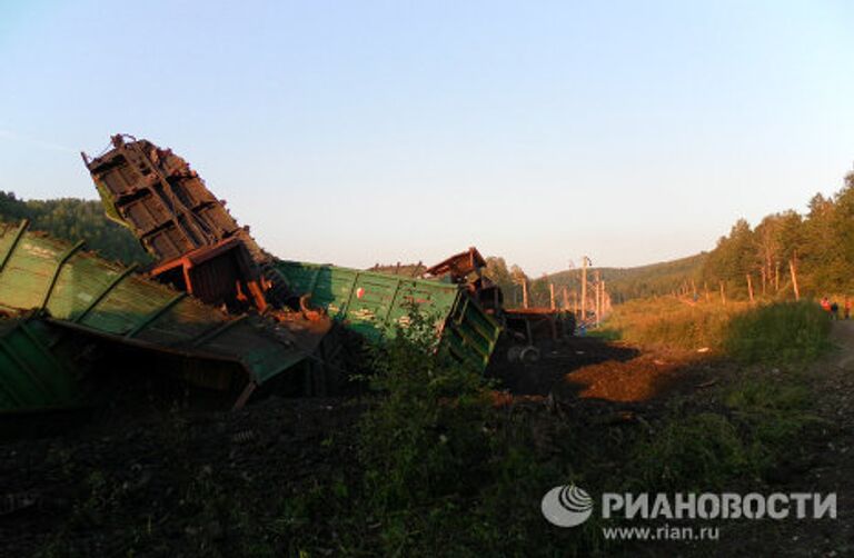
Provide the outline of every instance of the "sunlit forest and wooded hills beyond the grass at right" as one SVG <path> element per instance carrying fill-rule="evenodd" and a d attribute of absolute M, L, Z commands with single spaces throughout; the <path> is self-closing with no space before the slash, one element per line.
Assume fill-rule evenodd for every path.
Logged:
<path fill-rule="evenodd" d="M 488 258 L 489 275 L 503 286 L 510 303 L 519 299 L 518 266 L 503 258 Z M 802 297 L 854 296 L 854 172 L 831 197 L 816 193 L 806 215 L 794 210 L 765 217 L 756 227 L 739 219 L 709 252 L 636 268 L 598 270 L 615 303 L 633 298 L 682 293 L 748 297 L 748 277 L 755 298 L 790 299 L 794 296 L 792 269 Z M 580 270 L 528 278 L 530 302 L 549 303 L 548 285 L 580 290 Z"/>

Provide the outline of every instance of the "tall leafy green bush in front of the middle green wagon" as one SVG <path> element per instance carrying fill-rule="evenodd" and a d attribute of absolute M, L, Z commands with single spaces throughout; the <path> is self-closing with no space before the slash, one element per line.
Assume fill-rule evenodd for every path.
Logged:
<path fill-rule="evenodd" d="M 374 349 L 370 385 L 383 399 L 363 417 L 359 437 L 367 494 L 378 510 L 465 494 L 485 474 L 486 382 L 438 345 L 434 323 L 413 313 Z"/>

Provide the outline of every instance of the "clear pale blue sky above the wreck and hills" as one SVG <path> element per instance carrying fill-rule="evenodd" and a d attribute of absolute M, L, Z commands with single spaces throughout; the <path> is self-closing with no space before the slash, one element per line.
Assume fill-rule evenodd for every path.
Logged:
<path fill-rule="evenodd" d="M 115 132 L 284 258 L 649 263 L 842 187 L 854 3 L 0 0 L 0 189 Z"/>

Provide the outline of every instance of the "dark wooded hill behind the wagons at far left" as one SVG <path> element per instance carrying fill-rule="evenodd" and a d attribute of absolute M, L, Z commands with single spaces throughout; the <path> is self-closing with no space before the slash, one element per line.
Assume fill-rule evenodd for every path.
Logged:
<path fill-rule="evenodd" d="M 31 230 L 70 241 L 86 240 L 90 250 L 122 263 L 146 263 L 148 255 L 125 227 L 110 221 L 100 201 L 61 198 L 20 200 L 0 191 L 0 221 L 30 220 Z"/>

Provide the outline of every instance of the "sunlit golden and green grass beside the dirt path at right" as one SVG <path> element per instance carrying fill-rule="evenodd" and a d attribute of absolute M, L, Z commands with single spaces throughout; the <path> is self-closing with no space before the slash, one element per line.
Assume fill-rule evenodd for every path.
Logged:
<path fill-rule="evenodd" d="M 741 366 L 703 401 L 676 402 L 653 434 L 633 446 L 634 489 L 725 488 L 762 482 L 816 422 L 804 365 L 828 348 L 831 322 L 811 301 L 687 305 L 673 298 L 618 307 L 609 335 L 676 350 L 715 349 Z M 776 366 L 777 368 L 769 368 Z"/>

